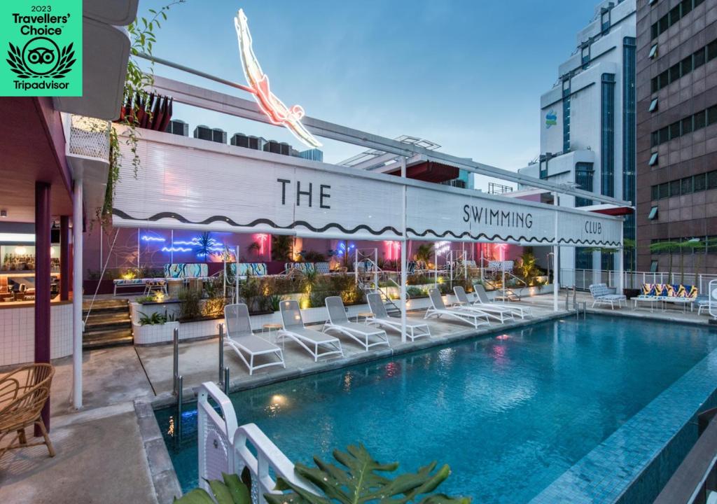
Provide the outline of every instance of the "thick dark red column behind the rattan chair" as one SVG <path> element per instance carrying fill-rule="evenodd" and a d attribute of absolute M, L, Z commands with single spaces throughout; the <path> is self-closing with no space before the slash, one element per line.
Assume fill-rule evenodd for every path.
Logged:
<path fill-rule="evenodd" d="M 35 182 L 35 362 L 49 362 L 50 184 Z M 49 429 L 49 399 L 42 409 Z M 36 428 L 35 435 L 39 435 Z"/>

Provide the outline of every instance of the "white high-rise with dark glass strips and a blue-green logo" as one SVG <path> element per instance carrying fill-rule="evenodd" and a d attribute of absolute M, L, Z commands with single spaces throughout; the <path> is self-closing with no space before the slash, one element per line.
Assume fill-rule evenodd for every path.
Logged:
<path fill-rule="evenodd" d="M 520 173 L 635 202 L 635 0 L 602 1 L 577 34 L 576 51 L 541 95 L 540 156 Z M 561 206 L 593 201 L 562 196 Z M 625 219 L 635 240 L 635 221 Z M 547 251 L 545 251 L 547 253 Z M 536 251 L 536 257 L 544 257 Z M 613 270 L 614 254 L 561 248 L 562 270 Z M 633 270 L 634 250 L 625 252 Z M 569 278 L 564 279 L 569 282 Z"/>

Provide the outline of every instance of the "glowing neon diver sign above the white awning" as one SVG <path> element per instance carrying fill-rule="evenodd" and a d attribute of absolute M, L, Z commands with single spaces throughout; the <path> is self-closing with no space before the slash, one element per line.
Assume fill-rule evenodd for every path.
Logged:
<path fill-rule="evenodd" d="M 308 132 L 301 123 L 304 116 L 304 109 L 301 105 L 293 105 L 288 108 L 284 103 L 271 92 L 269 77 L 263 72 L 262 67 L 252 49 L 252 34 L 249 32 L 247 16 L 239 9 L 234 18 L 234 27 L 237 29 L 239 39 L 239 54 L 242 57 L 242 68 L 244 77 L 247 77 L 259 108 L 267 115 L 270 122 L 275 125 L 287 128 L 300 142 L 309 147 L 320 147 L 321 143 Z"/>

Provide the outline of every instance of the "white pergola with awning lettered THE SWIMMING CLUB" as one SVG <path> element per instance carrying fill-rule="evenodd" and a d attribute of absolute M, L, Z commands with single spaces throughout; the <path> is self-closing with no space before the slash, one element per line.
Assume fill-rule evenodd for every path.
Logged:
<path fill-rule="evenodd" d="M 153 60 L 247 89 L 166 60 Z M 178 103 L 270 123 L 254 101 L 227 93 L 159 76 L 155 77 L 151 91 L 169 95 Z M 399 164 L 401 176 L 145 131 L 138 146 L 143 169 L 138 179 L 125 176 L 118 187 L 114 225 L 397 240 L 402 242 L 400 302 L 404 325 L 403 273 L 407 270 L 405 243 L 409 239 L 552 245 L 555 264 L 559 264 L 561 246 L 622 250 L 622 218 L 558 207 L 557 203 L 559 194 L 592 199 L 603 204 L 602 208 L 629 207 L 626 201 L 308 116 L 302 122 L 318 137 L 378 151 L 376 158 Z M 554 205 L 407 179 L 406 164 L 411 158 L 551 191 Z M 371 164 L 375 166 L 375 161 Z M 622 254 L 617 257 L 617 269 L 622 273 Z M 622 274 L 619 278 L 622 280 Z M 619 288 L 622 290 L 622 285 Z M 558 290 L 556 268 L 555 310 Z"/>

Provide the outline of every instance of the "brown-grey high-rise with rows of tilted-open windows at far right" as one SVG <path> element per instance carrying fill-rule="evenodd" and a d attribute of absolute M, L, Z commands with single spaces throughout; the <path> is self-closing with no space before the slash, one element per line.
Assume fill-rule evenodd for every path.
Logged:
<path fill-rule="evenodd" d="M 637 6 L 637 267 L 714 274 L 717 0 Z M 695 246 L 657 253 L 659 242 Z"/>

